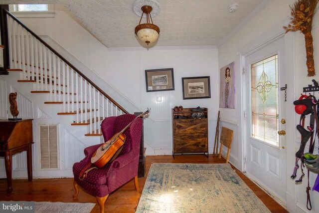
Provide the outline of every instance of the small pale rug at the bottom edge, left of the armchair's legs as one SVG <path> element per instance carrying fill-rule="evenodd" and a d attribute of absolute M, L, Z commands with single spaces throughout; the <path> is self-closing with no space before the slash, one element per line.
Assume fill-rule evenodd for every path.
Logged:
<path fill-rule="evenodd" d="M 90 213 L 94 203 L 34 202 L 35 213 Z"/>

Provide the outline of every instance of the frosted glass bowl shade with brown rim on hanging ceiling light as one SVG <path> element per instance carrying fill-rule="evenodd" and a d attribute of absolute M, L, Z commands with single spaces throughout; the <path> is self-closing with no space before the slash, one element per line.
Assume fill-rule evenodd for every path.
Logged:
<path fill-rule="evenodd" d="M 141 41 L 147 43 L 147 45 L 158 39 L 159 32 L 160 28 L 155 24 L 139 24 L 135 27 L 135 34 Z"/>

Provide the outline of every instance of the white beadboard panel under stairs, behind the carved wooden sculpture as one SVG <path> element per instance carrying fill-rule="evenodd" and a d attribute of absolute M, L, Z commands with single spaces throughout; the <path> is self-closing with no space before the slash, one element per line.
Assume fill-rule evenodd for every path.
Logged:
<path fill-rule="evenodd" d="M 33 118 L 33 102 L 11 86 L 11 92 L 17 92 L 16 103 L 18 105 L 19 118 Z M 12 115 L 9 115 L 9 117 Z"/>

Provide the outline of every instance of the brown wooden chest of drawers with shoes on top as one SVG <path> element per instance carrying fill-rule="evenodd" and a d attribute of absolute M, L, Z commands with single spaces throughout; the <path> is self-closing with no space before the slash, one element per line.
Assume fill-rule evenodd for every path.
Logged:
<path fill-rule="evenodd" d="M 172 109 L 173 156 L 192 153 L 208 156 L 207 108 L 202 109 L 202 112 L 192 112 L 191 108 L 178 112 Z"/>

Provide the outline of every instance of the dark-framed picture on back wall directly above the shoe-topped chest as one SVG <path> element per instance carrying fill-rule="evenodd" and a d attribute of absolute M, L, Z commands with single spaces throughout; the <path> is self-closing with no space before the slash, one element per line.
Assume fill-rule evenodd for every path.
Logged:
<path fill-rule="evenodd" d="M 210 98 L 209 76 L 181 78 L 183 99 Z"/>

